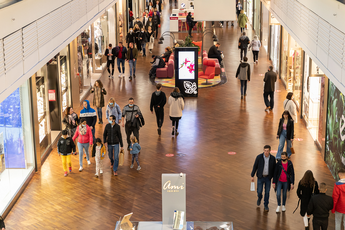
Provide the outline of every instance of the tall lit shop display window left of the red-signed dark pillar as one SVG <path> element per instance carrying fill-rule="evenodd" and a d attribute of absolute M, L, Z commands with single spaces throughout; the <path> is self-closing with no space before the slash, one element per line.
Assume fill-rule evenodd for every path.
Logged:
<path fill-rule="evenodd" d="M 47 117 L 47 71 L 43 66 L 36 74 L 36 95 L 37 95 L 37 112 L 39 124 L 39 140 L 41 157 L 49 146 L 48 138 L 48 117 Z"/>

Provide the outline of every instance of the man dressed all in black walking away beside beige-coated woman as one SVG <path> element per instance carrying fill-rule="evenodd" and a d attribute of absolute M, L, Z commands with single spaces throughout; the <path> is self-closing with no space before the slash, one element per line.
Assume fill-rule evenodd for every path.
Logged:
<path fill-rule="evenodd" d="M 162 127 L 164 121 L 164 105 L 167 103 L 167 97 L 165 96 L 165 93 L 161 91 L 161 83 L 156 84 L 156 88 L 157 91 L 153 92 L 151 96 L 150 110 L 153 114 L 153 109 L 155 109 L 158 126 L 157 131 L 158 135 L 160 135 L 160 128 Z"/>

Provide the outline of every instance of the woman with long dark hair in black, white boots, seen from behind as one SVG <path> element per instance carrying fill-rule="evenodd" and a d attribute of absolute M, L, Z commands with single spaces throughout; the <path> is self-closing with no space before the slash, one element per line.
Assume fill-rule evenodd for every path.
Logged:
<path fill-rule="evenodd" d="M 299 181 L 298 187 L 297 187 L 297 196 L 299 198 L 299 201 L 301 202 L 300 206 L 300 212 L 301 216 L 303 217 L 304 226 L 305 229 L 308 230 L 308 223 L 310 220 L 310 217 L 307 217 L 307 209 L 310 199 L 312 198 L 312 194 L 319 194 L 319 185 L 317 184 L 317 181 L 315 180 L 313 176 L 313 172 L 311 170 L 307 170 L 304 173 L 303 178 Z M 298 205 L 297 205 L 298 208 Z M 297 210 L 296 208 L 296 210 Z M 295 210 L 295 211 L 296 211 Z"/>

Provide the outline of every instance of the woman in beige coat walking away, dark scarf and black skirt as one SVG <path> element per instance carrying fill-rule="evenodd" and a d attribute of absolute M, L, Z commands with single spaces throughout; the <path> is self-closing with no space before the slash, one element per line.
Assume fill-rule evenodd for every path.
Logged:
<path fill-rule="evenodd" d="M 180 93 L 180 90 L 175 87 L 168 99 L 170 106 L 169 117 L 172 121 L 172 133 L 171 135 L 178 135 L 178 121 L 182 117 L 182 110 L 185 108 L 185 97 Z M 176 125 L 176 126 L 175 126 Z"/>

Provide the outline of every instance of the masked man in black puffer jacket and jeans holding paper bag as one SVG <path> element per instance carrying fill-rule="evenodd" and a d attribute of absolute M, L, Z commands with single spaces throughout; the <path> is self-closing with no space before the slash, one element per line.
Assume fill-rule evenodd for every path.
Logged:
<path fill-rule="evenodd" d="M 121 127 L 115 122 L 116 117 L 110 115 L 109 124 L 106 124 L 103 132 L 103 142 L 104 146 L 108 147 L 108 156 L 110 159 L 110 168 L 114 169 L 114 176 L 117 176 L 117 168 L 119 167 L 119 145 L 121 149 L 124 149 L 124 144 L 122 143 Z M 113 154 L 115 158 L 115 163 L 113 159 Z"/>

